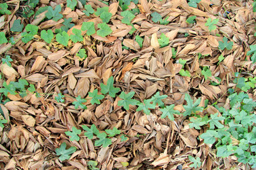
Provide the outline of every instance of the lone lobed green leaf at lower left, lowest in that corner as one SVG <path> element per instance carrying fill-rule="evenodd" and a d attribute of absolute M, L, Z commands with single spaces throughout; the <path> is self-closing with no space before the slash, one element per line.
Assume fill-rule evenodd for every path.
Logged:
<path fill-rule="evenodd" d="M 65 149 L 67 147 L 66 143 L 63 142 L 60 145 L 60 148 L 56 148 L 55 152 L 57 156 L 60 156 L 59 159 L 61 162 L 70 159 L 71 155 L 76 151 L 76 147 L 70 147 L 69 149 Z"/>

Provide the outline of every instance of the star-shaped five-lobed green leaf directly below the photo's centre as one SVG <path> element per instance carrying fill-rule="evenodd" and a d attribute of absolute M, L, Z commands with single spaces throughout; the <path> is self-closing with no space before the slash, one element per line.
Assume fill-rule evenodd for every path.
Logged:
<path fill-rule="evenodd" d="M 120 98 L 124 99 L 122 101 L 118 101 L 117 106 L 124 106 L 125 110 L 129 110 L 129 105 L 136 105 L 138 103 L 137 100 L 132 99 L 135 92 L 131 91 L 129 94 L 125 94 L 124 91 L 119 95 Z"/>

